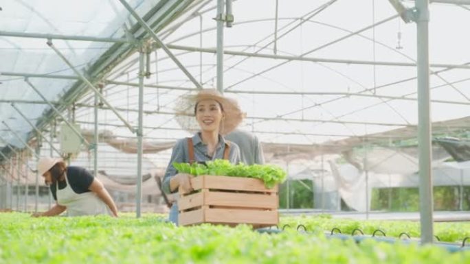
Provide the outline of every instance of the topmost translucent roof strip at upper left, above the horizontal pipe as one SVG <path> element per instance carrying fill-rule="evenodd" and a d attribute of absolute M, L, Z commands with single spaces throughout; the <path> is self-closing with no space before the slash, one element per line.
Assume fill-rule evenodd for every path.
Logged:
<path fill-rule="evenodd" d="M 127 2 L 145 14 L 159 1 Z M 134 23 L 123 5 L 110 0 L 6 0 L 2 9 L 0 22 L 9 32 L 121 37 L 124 23 Z"/>

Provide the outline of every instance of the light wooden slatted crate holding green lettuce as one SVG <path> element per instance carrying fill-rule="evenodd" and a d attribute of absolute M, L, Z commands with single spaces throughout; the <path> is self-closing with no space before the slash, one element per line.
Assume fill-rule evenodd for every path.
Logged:
<path fill-rule="evenodd" d="M 254 228 L 279 222 L 278 186 L 267 189 L 262 180 L 227 176 L 197 176 L 191 179 L 194 192 L 180 195 L 180 226 L 211 223 Z"/>

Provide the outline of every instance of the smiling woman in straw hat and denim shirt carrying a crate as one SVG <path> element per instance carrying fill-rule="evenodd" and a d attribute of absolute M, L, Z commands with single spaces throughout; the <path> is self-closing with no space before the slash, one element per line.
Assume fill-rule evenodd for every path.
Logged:
<path fill-rule="evenodd" d="M 166 168 L 162 189 L 165 193 L 192 191 L 190 175 L 178 173 L 172 163 L 193 163 L 225 158 L 231 163 L 240 162 L 238 145 L 225 141 L 223 134 L 234 130 L 243 120 L 243 113 L 236 101 L 220 95 L 212 89 L 203 89 L 195 96 L 183 97 L 182 109 L 194 109 L 199 132 L 192 138 L 180 139 L 173 147 L 170 163 Z M 186 106 L 186 108 L 185 108 Z M 194 107 L 194 108 L 192 108 Z M 185 114 L 179 112 L 184 117 Z M 178 206 L 173 203 L 170 221 L 178 224 Z"/>

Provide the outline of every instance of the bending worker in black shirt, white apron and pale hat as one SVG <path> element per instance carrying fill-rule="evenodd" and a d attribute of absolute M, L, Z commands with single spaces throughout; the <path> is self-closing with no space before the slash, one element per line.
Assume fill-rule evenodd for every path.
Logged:
<path fill-rule="evenodd" d="M 67 167 L 61 158 L 41 158 L 38 173 L 43 176 L 57 201 L 56 205 L 43 213 L 32 216 L 60 215 L 111 215 L 117 217 L 113 198 L 104 189 L 100 180 L 81 167 Z"/>

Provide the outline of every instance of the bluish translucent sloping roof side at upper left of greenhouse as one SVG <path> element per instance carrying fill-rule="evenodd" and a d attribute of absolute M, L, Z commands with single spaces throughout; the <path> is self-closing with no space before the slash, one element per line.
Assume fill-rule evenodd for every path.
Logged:
<path fill-rule="evenodd" d="M 184 6 L 175 3 L 159 0 L 128 1 L 140 16 L 153 14 L 151 12 L 157 16 L 171 16 L 172 12 L 168 10 Z M 125 30 L 132 29 L 136 24 L 128 10 L 118 1 L 7 0 L 1 3 L 1 8 L 0 86 L 3 93 L 0 98 L 0 119 L 23 139 L 26 139 L 26 133 L 32 127 L 8 103 L 16 104 L 32 123 L 36 123 L 38 117 L 50 109 L 43 97 L 53 103 L 63 104 L 61 97 L 70 93 L 78 80 L 67 63 L 47 45 L 47 40 L 51 40 L 54 47 L 78 71 L 89 73 L 89 69 L 98 62 L 106 63 L 107 58 L 118 55 L 115 51 L 115 54 L 103 57 L 114 43 L 108 40 L 91 41 L 92 38 L 126 38 Z M 89 39 L 78 41 L 74 38 Z M 65 77 L 53 78 L 52 75 Z M 24 82 L 25 77 L 29 78 L 41 95 Z M 36 104 L 26 101 L 36 101 Z M 7 128 L 2 129 L 0 134 L 13 145 L 22 145 Z"/>

